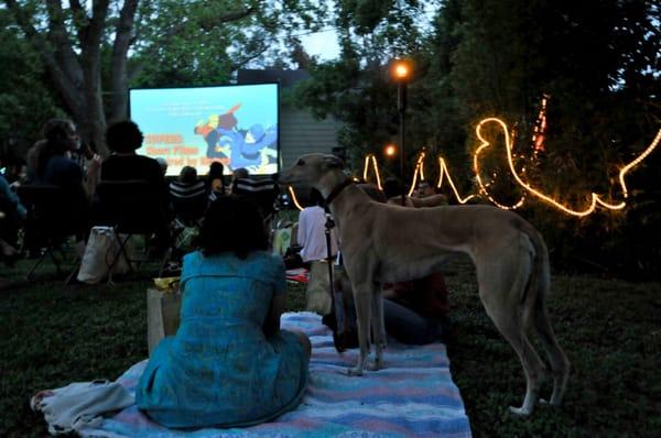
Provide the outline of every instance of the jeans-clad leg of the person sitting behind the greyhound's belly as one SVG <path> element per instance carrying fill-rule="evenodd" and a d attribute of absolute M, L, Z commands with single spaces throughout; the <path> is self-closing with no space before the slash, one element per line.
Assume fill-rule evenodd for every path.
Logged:
<path fill-rule="evenodd" d="M 390 299 L 383 299 L 386 332 L 402 343 L 422 346 L 442 335 L 441 325 Z"/>

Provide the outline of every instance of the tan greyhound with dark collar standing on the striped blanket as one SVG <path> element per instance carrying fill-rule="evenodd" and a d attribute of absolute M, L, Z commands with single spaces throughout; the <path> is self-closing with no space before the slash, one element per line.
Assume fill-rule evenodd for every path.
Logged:
<path fill-rule="evenodd" d="M 460 252 L 475 263 L 483 305 L 525 373 L 523 404 L 510 407 L 511 412 L 523 416 L 533 412 L 545 374 L 528 338 L 531 325 L 553 373 L 550 404 L 561 404 L 570 362 L 555 339 L 544 304 L 550 287 L 546 245 L 529 222 L 484 205 L 414 209 L 372 201 L 333 155 L 303 155 L 278 178 L 282 184 L 307 184 L 319 190 L 338 227 L 360 346 L 358 363 L 349 369 L 349 375 L 362 375 L 366 368 L 370 326 L 376 344 L 371 369 L 382 368 L 386 330 L 380 284 L 423 277 L 437 271 L 448 255 Z"/>

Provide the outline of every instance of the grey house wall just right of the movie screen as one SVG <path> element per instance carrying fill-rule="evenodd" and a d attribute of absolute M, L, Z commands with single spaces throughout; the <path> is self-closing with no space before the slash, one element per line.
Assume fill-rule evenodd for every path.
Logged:
<path fill-rule="evenodd" d="M 290 167 L 303 154 L 329 154 L 337 144 L 339 123 L 332 119 L 317 120 L 310 112 L 283 108 L 280 113 L 281 169 Z"/>

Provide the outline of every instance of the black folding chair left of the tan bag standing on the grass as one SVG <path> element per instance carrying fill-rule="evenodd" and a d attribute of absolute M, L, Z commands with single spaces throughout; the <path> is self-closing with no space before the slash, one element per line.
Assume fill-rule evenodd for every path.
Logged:
<path fill-rule="evenodd" d="M 59 186 L 20 186 L 18 195 L 21 204 L 28 210 L 24 240 L 34 242 L 41 248 L 39 259 L 25 277 L 32 278 L 32 274 L 44 261 L 46 254 L 53 260 L 57 274 L 62 274 L 59 261 L 55 258 L 54 251 L 58 250 L 64 259 L 62 244 L 68 237 L 75 236 L 79 231 L 79 211 L 71 208 L 72 199 Z M 23 244 L 23 249 L 24 247 L 25 244 Z"/>

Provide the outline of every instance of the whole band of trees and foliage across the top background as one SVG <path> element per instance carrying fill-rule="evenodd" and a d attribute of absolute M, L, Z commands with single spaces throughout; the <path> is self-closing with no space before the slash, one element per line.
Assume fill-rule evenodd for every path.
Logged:
<path fill-rule="evenodd" d="M 498 116 L 516 131 L 517 153 L 524 156 L 518 165 L 527 164 L 533 186 L 576 208 L 592 191 L 621 200 L 618 168 L 661 125 L 657 3 L 4 0 L 0 51 L 14 67 L 0 73 L 8 85 L 0 95 L 0 129 L 10 139 L 6 142 L 15 143 L 37 132 L 59 106 L 100 145 L 107 121 L 126 116 L 129 86 L 228 83 L 245 66 L 297 63 L 308 67 L 312 79 L 288 100 L 344 122 L 339 142 L 357 158 L 397 143 L 397 86 L 389 66 L 405 57 L 414 68 L 408 86 L 410 165 L 423 149 L 427 156 L 442 154 L 462 190 L 475 190 L 474 127 Z M 322 63 L 304 53 L 300 36 L 328 28 L 336 30 L 342 52 Z M 527 155 L 544 95 L 550 96 L 545 149 L 532 161 Z M 494 141 L 501 143 L 497 134 Z M 637 189 L 625 211 L 575 220 L 528 202 L 522 213 L 544 229 L 565 265 L 581 258 L 604 266 L 618 253 L 628 254 L 629 264 L 652 265 L 661 261 L 661 241 L 650 238 L 661 221 L 654 179 L 660 155 L 631 174 L 628 182 Z M 502 169 L 502 144 L 485 154 L 484 176 L 496 197 L 511 201 L 521 191 Z M 387 164 L 391 175 L 397 168 Z M 643 242 L 646 250 L 627 242 Z"/>

